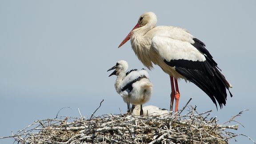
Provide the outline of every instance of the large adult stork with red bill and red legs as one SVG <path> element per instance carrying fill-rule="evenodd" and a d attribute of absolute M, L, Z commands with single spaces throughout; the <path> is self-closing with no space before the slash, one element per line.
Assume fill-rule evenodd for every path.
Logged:
<path fill-rule="evenodd" d="M 148 68 L 159 65 L 171 80 L 172 111 L 174 99 L 175 112 L 178 111 L 180 92 L 177 79 L 182 78 L 196 84 L 220 108 L 226 104 L 228 90 L 232 85 L 220 73 L 217 63 L 205 48 L 205 44 L 183 28 L 157 26 L 155 13 L 142 14 L 138 23 L 126 36 L 118 48 L 129 39 L 132 49 L 139 60 Z M 174 87 L 175 85 L 175 87 Z"/>

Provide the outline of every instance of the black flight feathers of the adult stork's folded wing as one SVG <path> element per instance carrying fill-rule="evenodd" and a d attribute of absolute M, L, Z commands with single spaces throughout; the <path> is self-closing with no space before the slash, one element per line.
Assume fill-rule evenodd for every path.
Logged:
<path fill-rule="evenodd" d="M 166 64 L 174 67 L 176 72 L 186 77 L 189 81 L 202 89 L 213 101 L 217 107 L 217 102 L 222 108 L 226 104 L 229 83 L 217 68 L 217 63 L 212 59 L 212 55 L 204 48 L 204 43 L 194 38 L 194 47 L 202 52 L 206 58 L 205 61 L 192 60 L 164 60 Z M 229 91 L 230 93 L 230 91 Z M 232 94 L 230 93 L 232 97 Z"/>

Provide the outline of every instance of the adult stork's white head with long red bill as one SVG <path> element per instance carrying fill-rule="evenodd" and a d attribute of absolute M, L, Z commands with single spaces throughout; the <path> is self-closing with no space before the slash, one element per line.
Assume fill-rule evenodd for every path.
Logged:
<path fill-rule="evenodd" d="M 118 48 L 120 48 L 123 44 L 130 40 L 130 36 L 132 35 L 133 32 L 140 30 L 143 32 L 148 32 L 156 26 L 156 22 L 157 17 L 154 12 L 145 12 L 144 14 L 142 14 L 138 20 L 138 23 L 135 25 L 134 28 L 132 28 L 132 31 L 124 38 L 124 40 L 121 42 Z"/>

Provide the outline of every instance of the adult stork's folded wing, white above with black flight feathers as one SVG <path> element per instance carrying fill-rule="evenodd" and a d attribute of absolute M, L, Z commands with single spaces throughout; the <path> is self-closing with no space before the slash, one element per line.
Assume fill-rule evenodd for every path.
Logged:
<path fill-rule="evenodd" d="M 217 64 L 204 48 L 204 43 L 198 39 L 193 40 L 194 43 L 191 44 L 165 36 L 155 36 L 152 38 L 152 48 L 165 64 L 175 68 L 176 72 L 201 88 L 214 104 L 217 100 L 222 108 L 222 104 L 226 104 L 226 88 L 229 88 L 229 83 L 217 69 Z M 230 95 L 232 96 L 231 93 Z"/>

